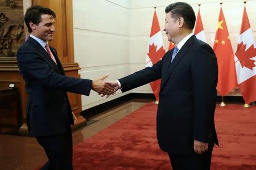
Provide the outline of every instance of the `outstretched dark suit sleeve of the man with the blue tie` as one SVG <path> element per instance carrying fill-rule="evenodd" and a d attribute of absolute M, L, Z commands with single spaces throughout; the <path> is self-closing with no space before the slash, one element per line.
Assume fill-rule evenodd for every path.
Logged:
<path fill-rule="evenodd" d="M 152 67 L 146 67 L 140 71 L 133 74 L 127 75 L 121 79 L 118 79 L 122 89 L 122 92 L 129 91 L 133 88 L 142 86 L 144 84 L 154 82 L 161 78 L 162 70 L 162 59 L 155 63 Z"/>

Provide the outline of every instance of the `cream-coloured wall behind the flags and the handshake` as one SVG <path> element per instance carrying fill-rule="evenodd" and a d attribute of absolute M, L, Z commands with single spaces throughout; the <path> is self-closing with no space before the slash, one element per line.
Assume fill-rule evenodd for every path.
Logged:
<path fill-rule="evenodd" d="M 145 66 L 148 39 L 154 14 L 154 6 L 160 27 L 164 26 L 164 9 L 170 3 L 166 0 L 73 0 L 73 30 L 75 41 L 75 62 L 81 70 L 81 78 L 96 79 L 109 73 L 106 80 L 114 80 L 141 70 Z M 205 36 L 213 45 L 220 1 L 185 1 L 189 3 L 197 16 L 203 20 Z M 222 10 L 233 51 L 236 50 L 240 33 L 243 1 L 222 1 Z M 256 39 L 256 0 L 247 1 L 246 10 L 251 29 Z M 162 31 L 167 51 L 168 40 Z M 122 94 L 120 91 L 108 99 L 98 96 L 94 91 L 90 96 L 82 96 L 82 110 L 113 100 L 130 92 L 152 93 L 148 84 Z"/>

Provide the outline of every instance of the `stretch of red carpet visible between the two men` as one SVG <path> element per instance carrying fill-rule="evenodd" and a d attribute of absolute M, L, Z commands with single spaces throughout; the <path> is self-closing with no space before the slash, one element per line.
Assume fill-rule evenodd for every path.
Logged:
<path fill-rule="evenodd" d="M 74 169 L 170 169 L 156 140 L 156 105 L 146 104 L 73 148 Z"/>

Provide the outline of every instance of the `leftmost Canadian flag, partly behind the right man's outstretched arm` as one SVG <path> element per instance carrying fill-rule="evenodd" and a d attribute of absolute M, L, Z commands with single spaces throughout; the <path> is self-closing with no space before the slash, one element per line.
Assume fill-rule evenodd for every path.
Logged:
<path fill-rule="evenodd" d="M 158 62 L 166 53 L 164 50 L 163 36 L 158 22 L 158 16 L 154 11 L 150 39 L 148 43 L 148 50 L 146 55 L 146 67 L 151 67 L 154 63 Z M 161 79 L 155 80 L 150 83 L 152 91 L 154 92 L 155 98 L 159 101 Z"/>

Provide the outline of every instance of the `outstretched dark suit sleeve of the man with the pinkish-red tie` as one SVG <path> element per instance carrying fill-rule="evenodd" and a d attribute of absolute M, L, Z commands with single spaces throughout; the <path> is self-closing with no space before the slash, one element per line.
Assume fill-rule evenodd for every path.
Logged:
<path fill-rule="evenodd" d="M 20 73 L 32 79 L 39 80 L 45 86 L 58 88 L 77 94 L 88 95 L 92 88 L 92 80 L 77 79 L 56 73 L 44 59 L 28 46 L 18 50 L 17 61 Z"/>

